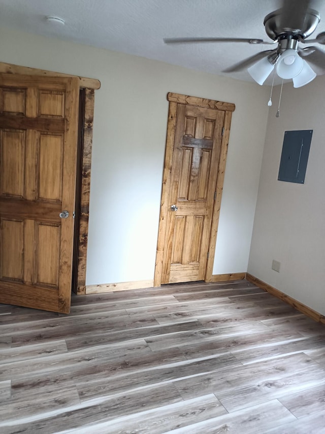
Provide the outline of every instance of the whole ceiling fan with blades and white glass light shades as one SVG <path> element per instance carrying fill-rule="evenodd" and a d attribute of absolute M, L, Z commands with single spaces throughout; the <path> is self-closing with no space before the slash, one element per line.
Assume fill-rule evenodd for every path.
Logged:
<path fill-rule="evenodd" d="M 300 88 L 316 77 L 309 63 L 325 73 L 325 53 L 316 46 L 325 45 L 325 32 L 315 39 L 307 39 L 320 21 L 319 13 L 309 8 L 311 0 L 283 0 L 282 8 L 264 18 L 265 31 L 270 41 L 252 38 L 167 38 L 166 44 L 205 42 L 245 42 L 249 44 L 276 45 L 276 48 L 258 52 L 223 72 L 236 72 L 247 68 L 251 77 L 263 84 L 275 69 L 282 79 L 293 79 L 294 87 Z M 313 55 L 314 53 L 314 55 Z M 315 56 L 316 55 L 316 56 Z M 308 61 L 308 63 L 306 62 Z"/>

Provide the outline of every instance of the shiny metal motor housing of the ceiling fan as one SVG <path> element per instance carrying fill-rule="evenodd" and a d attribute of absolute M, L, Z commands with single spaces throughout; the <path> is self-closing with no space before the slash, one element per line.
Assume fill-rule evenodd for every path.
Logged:
<path fill-rule="evenodd" d="M 308 9 L 302 28 L 282 27 L 282 9 L 271 12 L 264 18 L 264 26 L 267 35 L 274 41 L 280 35 L 300 36 L 302 39 L 308 38 L 316 29 L 320 15 L 314 9 Z"/>

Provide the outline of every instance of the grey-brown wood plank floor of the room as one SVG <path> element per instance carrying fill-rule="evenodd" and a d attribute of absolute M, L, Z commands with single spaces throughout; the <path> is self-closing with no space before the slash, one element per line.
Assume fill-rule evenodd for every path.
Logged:
<path fill-rule="evenodd" d="M 0 432 L 325 432 L 325 327 L 246 280 L 0 305 Z"/>

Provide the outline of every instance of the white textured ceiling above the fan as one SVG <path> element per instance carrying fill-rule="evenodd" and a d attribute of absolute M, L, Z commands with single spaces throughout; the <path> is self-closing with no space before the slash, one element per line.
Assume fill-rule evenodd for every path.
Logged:
<path fill-rule="evenodd" d="M 313 37 L 325 31 L 325 2 L 315 1 L 311 6 L 323 20 Z M 295 0 L 291 3 L 294 7 Z M 163 38 L 241 37 L 268 41 L 264 17 L 281 4 L 281 0 L 0 0 L 0 25 L 222 74 L 225 68 L 270 46 L 166 45 Z M 63 18 L 66 24 L 49 24 L 45 20 L 49 15 Z M 317 47 L 325 51 L 325 46 Z M 253 81 L 247 71 L 228 75 Z"/>

